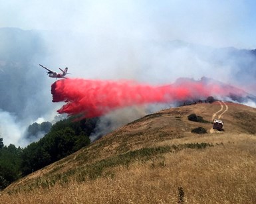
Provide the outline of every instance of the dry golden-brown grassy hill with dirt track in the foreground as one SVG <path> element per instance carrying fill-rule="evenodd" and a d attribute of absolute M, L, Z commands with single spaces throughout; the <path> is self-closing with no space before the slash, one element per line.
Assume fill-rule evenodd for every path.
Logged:
<path fill-rule="evenodd" d="M 252 107 L 219 101 L 163 110 L 12 183 L 0 201 L 256 203 L 255 118 Z"/>

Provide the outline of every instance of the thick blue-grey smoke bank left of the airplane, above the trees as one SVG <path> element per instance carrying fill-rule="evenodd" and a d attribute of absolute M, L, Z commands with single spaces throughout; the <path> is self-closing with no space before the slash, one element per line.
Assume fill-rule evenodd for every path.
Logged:
<path fill-rule="evenodd" d="M 26 128 L 56 115 L 51 81 L 38 68 L 47 53 L 39 32 L 0 28 L 0 137 L 7 146 L 26 146 Z"/>

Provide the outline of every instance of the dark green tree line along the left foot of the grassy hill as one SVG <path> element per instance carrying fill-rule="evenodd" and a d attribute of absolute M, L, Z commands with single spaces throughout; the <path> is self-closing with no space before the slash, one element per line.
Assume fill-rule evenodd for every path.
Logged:
<path fill-rule="evenodd" d="M 74 118 L 55 123 L 49 133 L 25 148 L 4 145 L 0 138 L 0 189 L 90 144 L 97 119 Z"/>

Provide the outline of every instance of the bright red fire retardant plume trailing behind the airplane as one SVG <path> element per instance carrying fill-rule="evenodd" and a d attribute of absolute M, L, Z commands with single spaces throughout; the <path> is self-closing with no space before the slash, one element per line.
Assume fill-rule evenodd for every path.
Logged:
<path fill-rule="evenodd" d="M 219 85 L 203 85 L 200 81 L 151 86 L 132 81 L 62 79 L 53 83 L 53 102 L 66 104 L 58 110 L 68 115 L 97 117 L 111 110 L 146 103 L 172 103 L 209 95 L 225 95 Z"/>

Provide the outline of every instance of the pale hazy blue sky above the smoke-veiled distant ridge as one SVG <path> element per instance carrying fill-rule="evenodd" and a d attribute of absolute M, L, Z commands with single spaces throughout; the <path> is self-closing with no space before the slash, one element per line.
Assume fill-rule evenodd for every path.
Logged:
<path fill-rule="evenodd" d="M 0 0 L 0 27 L 256 47 L 256 1 Z"/>

